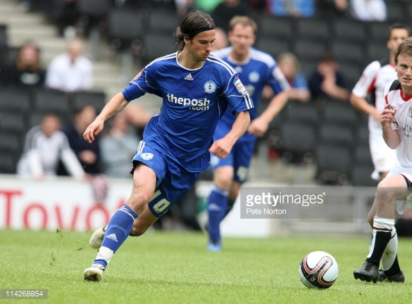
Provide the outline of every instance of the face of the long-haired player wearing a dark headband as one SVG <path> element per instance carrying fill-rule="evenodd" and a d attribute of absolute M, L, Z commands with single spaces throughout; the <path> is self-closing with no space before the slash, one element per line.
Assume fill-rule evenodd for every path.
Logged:
<path fill-rule="evenodd" d="M 196 62 L 205 61 L 212 51 L 214 40 L 216 39 L 215 31 L 205 31 L 198 33 L 192 40 L 185 40 L 189 53 Z"/>

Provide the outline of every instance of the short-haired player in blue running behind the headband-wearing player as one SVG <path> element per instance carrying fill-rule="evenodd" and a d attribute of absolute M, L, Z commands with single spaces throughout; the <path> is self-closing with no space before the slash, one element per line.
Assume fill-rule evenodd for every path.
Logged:
<path fill-rule="evenodd" d="M 256 22 L 250 17 L 235 16 L 230 20 L 229 28 L 230 47 L 214 51 L 213 54 L 228 62 L 239 73 L 239 78 L 252 96 L 255 108 L 250 110 L 251 121 L 247 132 L 234 144 L 228 157 L 223 159 L 212 155 L 214 187 L 207 201 L 207 250 L 215 252 L 221 251 L 220 223 L 232 209 L 241 185 L 246 181 L 257 137 L 266 133 L 273 117 L 284 108 L 290 89 L 275 60 L 268 53 L 252 47 L 257 34 Z M 269 85 L 275 95 L 259 115 L 257 107 L 265 85 Z M 227 110 L 218 122 L 214 140 L 224 137 L 233 123 L 234 117 Z"/>

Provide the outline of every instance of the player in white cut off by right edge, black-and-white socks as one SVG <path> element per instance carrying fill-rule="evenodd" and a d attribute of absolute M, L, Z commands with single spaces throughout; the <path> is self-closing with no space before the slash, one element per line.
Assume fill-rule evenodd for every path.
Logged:
<path fill-rule="evenodd" d="M 406 200 L 412 192 L 412 37 L 395 53 L 397 80 L 384 90 L 386 105 L 381 112 L 381 128 L 386 144 L 395 149 L 399 164 L 390 169 L 377 186 L 374 205 L 372 250 L 366 262 L 354 271 L 354 278 L 367 282 L 404 282 L 397 260 L 395 229 L 396 200 Z M 381 262 L 382 273 L 378 267 Z"/>

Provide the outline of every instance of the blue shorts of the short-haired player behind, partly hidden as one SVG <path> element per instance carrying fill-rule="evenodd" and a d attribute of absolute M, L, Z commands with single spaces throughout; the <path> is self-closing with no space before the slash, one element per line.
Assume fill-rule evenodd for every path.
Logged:
<path fill-rule="evenodd" d="M 224 137 L 229 130 L 225 128 L 216 128 L 213 140 L 216 141 Z M 234 170 L 234 181 L 238 183 L 245 183 L 248 178 L 250 161 L 252 160 L 253 153 L 255 153 L 256 137 L 253 135 L 243 135 L 234 144 L 232 151 L 228 157 L 221 159 L 216 155 L 211 155 L 210 168 L 212 170 L 222 167 L 231 166 Z"/>

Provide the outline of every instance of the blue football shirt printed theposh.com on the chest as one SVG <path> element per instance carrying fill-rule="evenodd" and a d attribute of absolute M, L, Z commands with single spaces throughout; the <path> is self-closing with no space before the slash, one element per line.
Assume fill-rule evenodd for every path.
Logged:
<path fill-rule="evenodd" d="M 253 108 L 252 99 L 230 65 L 210 55 L 198 69 L 182 67 L 178 52 L 153 60 L 123 90 L 127 101 L 146 93 L 162 97 L 155 125 L 148 124 L 143 140 L 151 133 L 161 136 L 169 156 L 188 171 L 209 168 L 209 147 L 216 124 L 228 111 Z M 148 131 L 148 128 L 150 132 Z"/>

